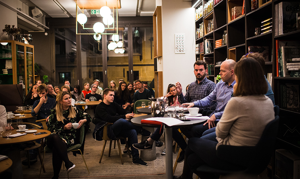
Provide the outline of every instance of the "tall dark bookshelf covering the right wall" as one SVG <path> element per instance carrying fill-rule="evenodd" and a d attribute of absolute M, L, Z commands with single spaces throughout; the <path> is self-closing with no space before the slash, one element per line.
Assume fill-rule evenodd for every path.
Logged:
<path fill-rule="evenodd" d="M 245 2 L 244 2 L 245 1 Z M 196 1 L 192 1 L 194 4 Z M 207 1 L 200 1 L 195 8 L 205 4 Z M 232 19 L 232 9 L 235 6 L 243 6 L 244 2 L 244 14 Z M 277 62 L 276 62 L 276 40 L 286 41 L 298 41 L 300 44 L 300 30 L 293 32 L 287 32 L 282 35 L 275 35 L 275 5 L 280 2 L 299 2 L 299 0 L 271 0 L 266 3 L 262 3 L 259 0 L 258 8 L 251 10 L 251 0 L 222 0 L 213 7 L 213 23 L 214 31 L 210 33 L 204 33 L 203 38 L 196 39 L 196 44 L 205 41 L 210 37 L 215 41 L 222 38 L 224 30 L 227 30 L 227 44 L 222 44 L 220 47 L 215 47 L 212 53 L 204 54 L 204 57 L 213 57 L 214 59 L 214 77 L 220 72 L 220 65 L 216 65 L 217 62 L 222 62 L 226 58 L 239 61 L 241 56 L 248 53 L 249 46 L 267 46 L 268 58 L 265 62 L 265 76 L 268 73 L 272 73 L 272 89 L 274 92 L 275 104 L 280 107 L 280 129 L 285 124 L 286 119 L 292 121 L 290 127 L 295 127 L 299 123 L 300 109 L 298 108 L 283 108 L 282 105 L 282 90 L 281 86 L 286 83 L 296 84 L 300 87 L 300 77 L 277 77 Z M 204 22 L 211 18 L 211 14 L 208 14 L 202 19 L 198 19 L 195 24 L 196 28 L 199 22 Z M 272 31 L 264 34 L 255 35 L 255 28 L 261 27 L 262 21 L 272 18 L 269 22 L 272 22 Z M 206 30 L 205 30 L 206 32 Z M 300 46 L 300 45 L 299 45 Z M 199 54 L 196 54 L 196 60 L 202 60 Z M 214 81 L 211 75 L 207 75 L 208 79 Z M 298 91 L 299 94 L 299 91 Z M 282 118 L 282 119 L 281 119 Z M 293 126 L 294 125 L 294 126 Z M 283 137 L 280 134 L 277 139 L 277 148 L 286 148 L 291 150 L 300 149 L 300 136 Z M 272 171 L 274 172 L 274 171 Z M 271 178 L 274 177 L 274 173 Z"/>

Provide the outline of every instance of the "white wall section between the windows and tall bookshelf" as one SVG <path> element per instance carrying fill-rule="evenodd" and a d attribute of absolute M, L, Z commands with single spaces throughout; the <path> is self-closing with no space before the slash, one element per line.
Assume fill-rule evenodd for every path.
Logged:
<path fill-rule="evenodd" d="M 179 81 L 185 87 L 195 80 L 195 8 L 190 1 L 162 1 L 163 56 L 158 59 L 158 71 L 163 71 L 164 93 L 168 84 Z M 175 54 L 175 33 L 185 34 L 185 53 Z"/>

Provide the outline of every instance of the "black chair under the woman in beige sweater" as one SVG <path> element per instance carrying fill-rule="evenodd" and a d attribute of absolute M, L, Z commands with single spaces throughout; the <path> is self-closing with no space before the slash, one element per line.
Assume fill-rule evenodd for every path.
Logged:
<path fill-rule="evenodd" d="M 202 172 L 227 175 L 234 173 L 243 173 L 248 175 L 258 175 L 265 170 L 270 162 L 271 155 L 274 151 L 275 140 L 278 131 L 279 116 L 276 116 L 265 127 L 262 137 L 256 146 L 230 146 L 220 145 L 217 148 L 217 156 L 234 165 L 240 166 L 240 170 L 222 170 L 213 168 L 208 165 L 201 165 L 193 170 L 198 176 Z"/>

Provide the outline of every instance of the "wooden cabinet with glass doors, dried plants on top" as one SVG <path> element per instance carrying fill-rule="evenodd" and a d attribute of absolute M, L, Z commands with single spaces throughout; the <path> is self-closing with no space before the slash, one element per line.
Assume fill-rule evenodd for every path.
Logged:
<path fill-rule="evenodd" d="M 34 77 L 34 46 L 17 41 L 0 41 L 0 84 L 22 84 L 26 96 Z"/>

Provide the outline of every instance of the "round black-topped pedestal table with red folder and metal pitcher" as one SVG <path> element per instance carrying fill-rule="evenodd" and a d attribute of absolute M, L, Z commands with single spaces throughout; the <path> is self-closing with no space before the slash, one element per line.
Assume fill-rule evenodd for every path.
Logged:
<path fill-rule="evenodd" d="M 167 117 L 168 115 L 165 114 L 164 117 Z M 146 116 L 140 116 L 140 117 L 134 117 L 131 119 L 131 122 L 134 125 L 137 126 L 146 126 L 146 127 L 160 127 L 159 125 L 153 125 L 153 124 L 142 124 L 141 120 L 146 119 L 146 118 L 151 118 L 151 115 L 146 115 Z M 179 119 L 179 117 L 176 117 Z M 189 126 L 189 125 L 196 125 L 199 123 L 202 123 L 206 120 L 185 120 L 185 116 L 180 117 L 180 119 L 183 120 L 184 123 L 177 124 L 174 126 L 167 126 L 164 125 L 165 127 L 165 145 L 166 145 L 166 178 L 167 179 L 172 179 L 173 178 L 173 152 L 172 152 L 172 127 L 183 127 L 183 126 Z"/>

